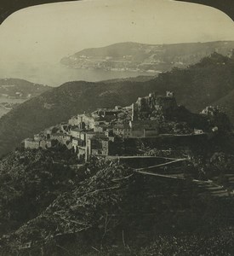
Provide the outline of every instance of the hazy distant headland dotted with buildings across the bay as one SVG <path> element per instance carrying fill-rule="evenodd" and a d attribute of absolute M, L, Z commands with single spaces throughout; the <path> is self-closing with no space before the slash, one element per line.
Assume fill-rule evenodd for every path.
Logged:
<path fill-rule="evenodd" d="M 213 52 L 231 55 L 232 49 L 232 41 L 191 44 L 119 43 L 83 49 L 64 57 L 61 63 L 73 68 L 160 73 L 172 67 L 188 67 Z"/>

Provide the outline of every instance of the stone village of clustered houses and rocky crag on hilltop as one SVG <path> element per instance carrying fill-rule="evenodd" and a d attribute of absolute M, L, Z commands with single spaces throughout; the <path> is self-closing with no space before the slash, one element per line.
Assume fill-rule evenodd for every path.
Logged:
<path fill-rule="evenodd" d="M 91 155 L 115 154 L 112 150 L 115 143 L 124 140 L 152 139 L 162 135 L 203 135 L 203 130 L 191 128 L 185 122 L 170 121 L 167 124 L 168 117 L 174 118 L 178 109 L 180 106 L 173 92 L 167 91 L 165 96 L 151 93 L 149 96 L 139 97 L 131 106 L 125 108 L 116 106 L 113 109 L 100 108 L 93 113 L 77 114 L 67 123 L 49 127 L 33 138 L 26 138 L 24 147 L 47 149 L 59 143 L 73 150 L 83 162 Z M 208 111 L 202 115 L 208 115 Z M 173 128 L 168 131 L 168 126 Z M 213 127 L 212 131 L 217 129 Z"/>

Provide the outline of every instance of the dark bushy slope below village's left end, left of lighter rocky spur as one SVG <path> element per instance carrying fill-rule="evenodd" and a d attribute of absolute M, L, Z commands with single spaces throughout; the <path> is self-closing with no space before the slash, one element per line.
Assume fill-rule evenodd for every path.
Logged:
<path fill-rule="evenodd" d="M 0 234 L 35 218 L 62 191 L 69 191 L 75 173 L 54 161 L 71 157 L 69 151 L 54 148 L 41 150 L 16 149 L 0 164 Z M 67 161 L 66 161 L 67 162 Z"/>

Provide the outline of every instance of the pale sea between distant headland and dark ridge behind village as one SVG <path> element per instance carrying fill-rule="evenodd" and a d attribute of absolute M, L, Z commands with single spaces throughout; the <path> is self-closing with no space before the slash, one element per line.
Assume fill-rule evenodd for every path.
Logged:
<path fill-rule="evenodd" d="M 104 71 L 101 69 L 76 69 L 65 67 L 60 63 L 46 62 L 1 62 L 0 79 L 26 79 L 36 84 L 59 86 L 69 81 L 96 82 L 109 79 L 123 79 L 139 75 L 155 75 L 147 72 Z"/>

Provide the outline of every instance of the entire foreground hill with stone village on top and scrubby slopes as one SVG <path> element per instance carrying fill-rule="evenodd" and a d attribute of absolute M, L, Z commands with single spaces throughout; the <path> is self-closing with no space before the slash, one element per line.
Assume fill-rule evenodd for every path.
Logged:
<path fill-rule="evenodd" d="M 106 243 L 111 234 L 115 239 L 120 235 L 123 242 L 123 227 L 128 227 L 125 234 L 146 230 L 148 242 L 150 236 L 157 235 L 155 230 L 161 234 L 165 227 L 168 234 L 185 228 L 186 236 L 197 223 L 199 232 L 207 223 L 205 231 L 217 223 L 222 225 L 223 218 L 226 221 L 231 216 L 226 212 L 233 208 L 233 182 L 229 183 L 229 178 L 234 178 L 234 156 L 229 153 L 233 146 L 226 147 L 229 142 L 219 145 L 226 135 L 226 140 L 233 142 L 228 130 L 225 133 L 227 124 L 220 108 L 208 106 L 201 113 L 191 113 L 167 91 L 164 96 L 150 93 L 140 97 L 128 107 L 77 114 L 26 138 L 24 148 L 15 149 L 1 161 L 6 170 L 0 186 L 6 201 L 2 208 L 9 211 L 0 211 L 7 223 L 2 225 L 6 235 L 0 237 L 0 251 L 40 255 L 50 244 L 54 250 L 58 241 L 75 235 L 74 243 L 80 242 L 77 247 L 82 247 L 83 234 L 91 242 L 95 238 L 97 247 L 107 224 L 110 236 Z M 227 154 L 222 148 L 228 148 Z M 213 196 L 215 201 L 211 201 Z M 220 197 L 225 204 L 218 201 Z M 197 206 L 204 211 L 197 211 Z M 18 207 L 28 214 L 21 226 Z M 32 207 L 35 217 L 31 218 Z M 222 215 L 220 208 L 225 209 Z M 16 217 L 11 220 L 9 214 Z M 9 233 L 12 223 L 20 229 Z M 151 228 L 151 224 L 155 225 Z M 51 255 L 52 251 L 48 252 L 46 255 Z"/>

